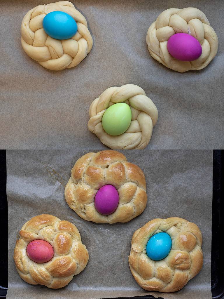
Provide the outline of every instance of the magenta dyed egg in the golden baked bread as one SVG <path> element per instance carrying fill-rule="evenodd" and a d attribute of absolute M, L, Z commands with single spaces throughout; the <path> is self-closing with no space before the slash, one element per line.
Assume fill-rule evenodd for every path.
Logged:
<path fill-rule="evenodd" d="M 95 196 L 95 208 L 103 215 L 109 215 L 113 213 L 119 203 L 119 194 L 117 189 L 112 185 L 105 185 L 101 187 Z"/>

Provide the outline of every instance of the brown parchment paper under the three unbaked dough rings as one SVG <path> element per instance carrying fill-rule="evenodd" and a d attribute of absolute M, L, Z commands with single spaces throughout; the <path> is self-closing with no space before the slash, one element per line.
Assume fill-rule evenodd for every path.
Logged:
<path fill-rule="evenodd" d="M 141 86 L 159 111 L 148 149 L 224 148 L 224 1 L 77 0 L 87 18 L 93 49 L 75 68 L 49 71 L 28 57 L 20 25 L 31 8 L 56 0 L 1 0 L 0 147 L 106 148 L 87 128 L 91 102 L 105 89 Z M 214 60 L 180 74 L 154 60 L 146 33 L 163 10 L 197 7 L 219 38 Z"/>

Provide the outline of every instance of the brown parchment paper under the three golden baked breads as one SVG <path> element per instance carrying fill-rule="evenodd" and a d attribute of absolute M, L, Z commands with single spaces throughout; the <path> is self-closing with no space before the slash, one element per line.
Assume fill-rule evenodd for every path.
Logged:
<path fill-rule="evenodd" d="M 78 158 L 98 149 L 7 151 L 9 288 L 7 299 L 88 299 L 150 294 L 141 289 L 128 266 L 131 238 L 154 218 L 177 216 L 196 223 L 203 235 L 204 265 L 179 292 L 165 299 L 211 297 L 212 151 L 121 151 L 145 173 L 148 203 L 128 223 L 97 224 L 80 218 L 64 199 L 64 187 Z M 74 223 L 89 252 L 89 262 L 65 288 L 52 290 L 25 283 L 17 273 L 13 249 L 19 230 L 31 217 L 49 213 Z"/>

